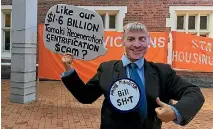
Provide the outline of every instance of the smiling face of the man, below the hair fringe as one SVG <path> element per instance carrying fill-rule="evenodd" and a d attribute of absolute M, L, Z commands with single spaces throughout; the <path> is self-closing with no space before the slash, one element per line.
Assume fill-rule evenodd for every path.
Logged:
<path fill-rule="evenodd" d="M 127 57 L 132 62 L 144 57 L 149 44 L 150 37 L 145 31 L 129 31 L 124 35 L 123 46 Z"/>

